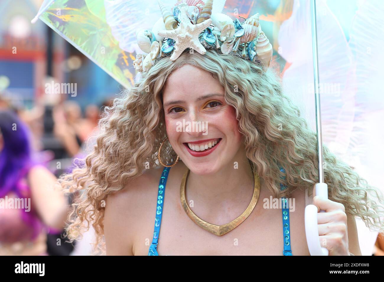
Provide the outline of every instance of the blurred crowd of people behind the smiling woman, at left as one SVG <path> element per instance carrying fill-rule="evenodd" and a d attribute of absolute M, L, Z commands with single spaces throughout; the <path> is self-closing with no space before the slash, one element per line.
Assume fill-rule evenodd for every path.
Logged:
<path fill-rule="evenodd" d="M 70 255 L 74 246 L 65 242 L 63 228 L 73 199 L 53 187 L 74 158 L 85 156 L 84 142 L 97 134 L 100 114 L 113 98 L 82 110 L 50 93 L 26 109 L 8 94 L 0 92 L 0 197 L 30 198 L 31 210 L 0 204 L 0 255 Z M 89 254 L 90 247 L 88 241 L 80 254 Z"/>

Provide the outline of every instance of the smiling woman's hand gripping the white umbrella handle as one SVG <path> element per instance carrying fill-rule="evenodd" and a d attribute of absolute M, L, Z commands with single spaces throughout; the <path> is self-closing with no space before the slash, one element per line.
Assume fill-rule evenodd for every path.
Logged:
<path fill-rule="evenodd" d="M 313 195 L 316 195 L 315 186 Z M 348 249 L 347 214 L 344 205 L 324 200 L 318 196 L 313 197 L 313 204 L 318 209 L 318 229 L 320 246 L 326 247 L 329 256 L 350 256 Z M 325 212 L 320 213 L 320 210 Z"/>

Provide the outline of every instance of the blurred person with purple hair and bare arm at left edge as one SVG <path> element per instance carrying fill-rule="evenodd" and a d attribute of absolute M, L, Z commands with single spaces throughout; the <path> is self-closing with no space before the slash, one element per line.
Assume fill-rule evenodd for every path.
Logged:
<path fill-rule="evenodd" d="M 62 230 L 66 196 L 55 176 L 33 160 L 29 130 L 0 110 L 0 255 L 47 255 L 48 229 Z"/>

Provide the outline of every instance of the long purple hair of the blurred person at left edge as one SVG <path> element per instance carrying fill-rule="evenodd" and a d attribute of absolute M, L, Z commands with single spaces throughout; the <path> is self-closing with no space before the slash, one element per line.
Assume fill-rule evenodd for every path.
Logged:
<path fill-rule="evenodd" d="M 30 187 L 20 180 L 31 167 L 39 164 L 31 158 L 30 132 L 16 114 L 8 110 L 0 110 L 0 130 L 4 143 L 0 151 L 0 198 L 11 191 L 25 198 L 30 195 Z M 22 218 L 33 228 L 34 239 L 41 231 L 41 221 L 32 209 L 30 212 L 23 209 Z"/>

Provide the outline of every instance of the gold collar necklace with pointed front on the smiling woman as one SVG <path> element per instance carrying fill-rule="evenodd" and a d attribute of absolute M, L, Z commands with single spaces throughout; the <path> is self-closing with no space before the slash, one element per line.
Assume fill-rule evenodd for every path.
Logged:
<path fill-rule="evenodd" d="M 223 225 L 215 225 L 208 223 L 201 218 L 199 218 L 196 214 L 193 213 L 193 211 L 189 208 L 189 205 L 187 204 L 187 201 L 185 200 L 185 183 L 187 183 L 187 178 L 189 175 L 189 169 L 184 173 L 184 176 L 181 180 L 180 185 L 180 200 L 181 204 L 184 208 L 184 211 L 188 214 L 189 218 L 192 219 L 197 225 L 199 225 L 201 228 L 209 231 L 212 234 L 215 234 L 217 236 L 222 236 L 223 234 L 231 231 L 233 228 L 238 226 L 240 223 L 242 223 L 253 211 L 253 208 L 255 208 L 257 200 L 259 198 L 260 193 L 260 178 L 256 173 L 255 168 L 253 168 L 253 163 L 250 161 L 252 172 L 253 172 L 253 178 L 255 180 L 255 188 L 253 190 L 253 196 L 252 200 L 249 203 L 247 209 L 235 220 L 231 221 L 230 223 L 223 224 Z"/>

